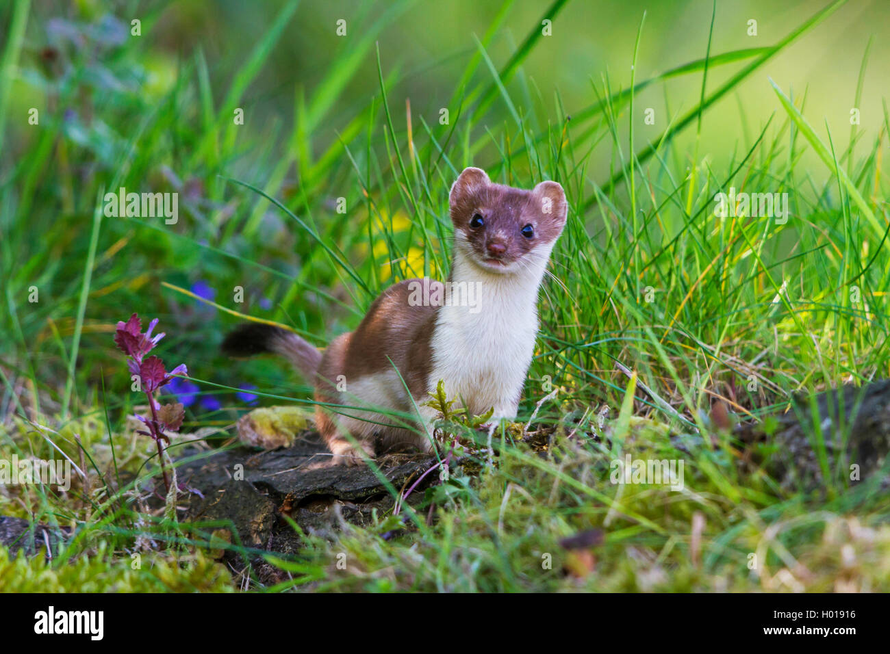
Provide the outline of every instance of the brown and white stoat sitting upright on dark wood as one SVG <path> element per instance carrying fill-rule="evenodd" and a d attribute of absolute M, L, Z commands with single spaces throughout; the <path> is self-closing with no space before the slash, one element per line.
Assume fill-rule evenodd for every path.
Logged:
<path fill-rule="evenodd" d="M 451 186 L 449 207 L 448 282 L 387 288 L 359 327 L 324 351 L 259 323 L 237 327 L 223 343 L 232 356 L 284 355 L 312 381 L 316 424 L 335 464 L 361 463 L 358 446 L 372 457 L 406 445 L 431 449 L 435 411 L 425 402 L 440 380 L 473 415 L 516 416 L 538 334 L 538 288 L 566 222 L 565 194 L 557 182 L 514 189 L 470 167 Z M 379 413 L 387 410 L 417 416 L 419 428 Z"/>

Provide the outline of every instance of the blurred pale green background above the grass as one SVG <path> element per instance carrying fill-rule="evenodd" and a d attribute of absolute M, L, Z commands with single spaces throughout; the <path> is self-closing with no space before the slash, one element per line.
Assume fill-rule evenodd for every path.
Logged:
<path fill-rule="evenodd" d="M 231 82 L 231 72 L 247 60 L 251 49 L 266 33 L 284 3 L 264 0 L 246 6 L 238 0 L 185 0 L 183 2 L 107 2 L 105 0 L 40 0 L 33 4 L 22 65 L 28 69 L 60 72 L 68 61 L 47 61 L 52 51 L 72 41 L 87 50 L 112 47 L 128 36 L 129 21 L 141 18 L 143 36 L 140 66 L 116 70 L 109 75 L 98 63 L 92 71 L 93 93 L 105 85 L 130 85 L 134 91 L 157 94 L 174 85 L 177 69 L 196 50 L 204 52 L 212 88 L 217 92 Z M 776 3 L 771 0 L 733 0 L 716 3 L 712 54 L 776 44 L 805 19 L 829 4 L 827 0 Z M 12 5 L 0 16 L 8 24 Z M 504 27 L 498 29 L 489 47 L 498 68 L 522 42 L 531 25 L 539 22 L 549 3 L 516 0 L 509 8 Z M 597 0 L 569 2 L 554 16 L 552 36 L 539 44 L 522 68 L 530 88 L 514 80 L 508 91 L 539 103 L 546 115 L 555 117 L 555 96 L 569 115 L 597 101 L 592 81 L 603 76 L 615 88 L 630 82 L 630 62 L 637 30 L 643 21 L 636 81 L 704 57 L 708 47 L 712 3 L 708 0 Z M 448 105 L 467 61 L 476 52 L 473 37 L 482 38 L 501 3 L 476 0 L 447 2 L 356 3 L 344 0 L 303 2 L 271 52 L 263 69 L 250 85 L 241 104 L 248 112 L 248 130 L 266 132 L 282 124 L 285 132 L 293 124 L 295 98 L 312 99 L 328 76 L 329 62 L 336 52 L 353 47 L 336 36 L 336 21 L 346 28 L 379 42 L 385 73 L 398 78 L 398 95 L 412 109 L 433 121 Z M 112 18 L 113 17 L 113 18 Z M 381 20 L 385 17 L 385 20 Z M 394 20 L 390 20 L 394 19 Z M 756 20 L 756 36 L 749 36 L 749 20 Z M 80 40 L 77 24 L 93 22 L 94 29 Z M 890 82 L 890 3 L 855 0 L 781 52 L 773 61 L 745 80 L 736 93 L 724 97 L 708 112 L 702 137 L 714 160 L 729 157 L 745 133 L 762 125 L 778 109 L 769 78 L 786 93 L 806 93 L 805 115 L 824 132 L 832 130 L 838 149 L 849 136 L 850 109 L 867 45 L 868 67 L 862 85 L 862 130 L 875 132 L 884 122 L 881 93 Z M 2 32 L 7 32 L 4 28 Z M 95 41 L 91 42 L 90 37 Z M 94 53 L 93 55 L 94 56 Z M 740 65 L 711 69 L 708 88 L 716 88 Z M 129 72 L 129 77 L 126 73 Z M 488 75 L 487 70 L 480 71 Z M 52 77 L 28 74 L 16 78 L 8 107 L 9 139 L 6 156 L 27 149 L 36 137 L 15 117 L 29 107 L 45 106 Z M 638 106 L 655 109 L 655 125 L 644 125 L 638 116 L 638 138 L 658 135 L 668 116 L 694 106 L 700 94 L 700 76 L 678 77 L 667 89 L 651 87 L 638 97 Z M 354 117 L 357 109 L 378 90 L 373 49 L 357 62 L 349 80 L 348 93 L 334 99 L 324 125 L 312 133 L 313 147 L 323 151 L 336 140 L 338 131 Z M 220 93 L 222 95 L 222 93 Z M 221 98 L 217 98 L 221 100 Z M 503 108 L 502 108 L 503 109 Z M 397 125 L 401 126 L 401 125 Z M 648 131 L 647 131 L 648 130 Z M 688 133 L 682 139 L 692 138 Z M 592 170 L 608 170 L 607 157 L 591 161 Z"/>

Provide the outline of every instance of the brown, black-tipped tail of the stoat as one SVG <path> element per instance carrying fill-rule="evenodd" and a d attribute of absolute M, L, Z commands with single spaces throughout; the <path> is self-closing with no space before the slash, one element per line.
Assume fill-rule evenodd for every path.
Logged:
<path fill-rule="evenodd" d="M 315 373 L 321 363 L 318 348 L 274 325 L 246 322 L 235 327 L 223 341 L 223 352 L 231 357 L 252 357 L 255 354 L 280 354 L 294 363 L 307 382 L 315 382 Z"/>

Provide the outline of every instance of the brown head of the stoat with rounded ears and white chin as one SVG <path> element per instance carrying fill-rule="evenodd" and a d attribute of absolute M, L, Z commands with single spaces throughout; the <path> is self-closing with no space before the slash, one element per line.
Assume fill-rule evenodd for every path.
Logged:
<path fill-rule="evenodd" d="M 556 182 L 514 189 L 491 182 L 479 168 L 465 168 L 457 177 L 449 206 L 458 252 L 498 273 L 543 268 L 568 210 Z"/>

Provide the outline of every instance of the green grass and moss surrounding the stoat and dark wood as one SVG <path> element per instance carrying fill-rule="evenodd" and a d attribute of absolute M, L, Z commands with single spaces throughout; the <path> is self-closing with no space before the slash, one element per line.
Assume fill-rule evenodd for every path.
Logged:
<path fill-rule="evenodd" d="M 824 492 L 781 488 L 763 468 L 740 467 L 738 443 L 708 418 L 717 399 L 740 419 L 756 420 L 784 409 L 791 392 L 890 374 L 886 115 L 872 142 L 854 132 L 859 138 L 837 151 L 837 135 L 807 122 L 804 99 L 774 85 L 775 95 L 761 100 L 774 103 L 773 117 L 752 138 L 740 137 L 728 166 L 713 167 L 698 138 L 694 151 L 676 142 L 844 3 L 827 5 L 765 48 L 716 52 L 711 44 L 701 60 L 651 79 L 635 72 L 627 88 L 592 79 L 596 101 L 569 117 L 558 96 L 535 97 L 523 72 L 523 61 L 542 47 L 539 21 L 512 58 L 492 60 L 488 48 L 508 0 L 476 49 L 460 55 L 465 69 L 448 125 L 439 124 L 438 108 L 418 108 L 417 101 L 408 114 L 400 82 L 415 70 L 396 63 L 390 45 L 375 48 L 376 34 L 411 4 L 366 14 L 361 28 L 352 28 L 361 36 L 331 55 L 320 85 L 296 86 L 293 125 L 232 122 L 283 29 L 300 16 L 288 3 L 224 77 L 231 81 L 223 89 L 212 88 L 198 48 L 159 96 L 130 84 L 84 93 L 95 91 L 85 75 L 90 53 L 63 53 L 71 72 L 46 94 L 76 117 L 44 110 L 39 131 L 27 138 L 29 127 L 12 125 L 4 107 L 12 81 L 35 79 L 13 72 L 16 61 L 24 71 L 37 69 L 35 56 L 22 50 L 22 21 L 45 17 L 21 0 L 0 10 L 13 26 L 0 62 L 0 117 L 10 130 L 0 141 L 0 454 L 46 458 L 58 448 L 85 471 L 64 497 L 42 487 L 0 494 L 0 513 L 77 530 L 64 555 L 45 565 L 0 559 L 0 569 L 28 570 L 16 572 L 23 581 L 11 588 L 93 589 L 84 581 L 89 570 L 127 569 L 148 537 L 182 580 L 169 570 L 151 578 L 120 572 L 122 586 L 98 587 L 218 587 L 190 577 L 194 557 L 204 561 L 201 553 L 212 549 L 214 526 L 165 521 L 142 501 L 158 468 L 150 442 L 125 425 L 138 400 L 113 348 L 115 322 L 132 311 L 158 317 L 168 333 L 161 354 L 187 363 L 203 380 L 202 393 L 222 400 L 218 410 L 192 409 L 183 432 L 201 437 L 230 426 L 244 410 L 234 395 L 240 384 L 255 384 L 263 403 L 306 402 L 308 389 L 282 365 L 223 359 L 218 344 L 237 319 L 177 287 L 204 280 L 220 307 L 286 323 L 323 345 L 354 327 L 393 282 L 447 274 L 448 190 L 467 165 L 527 188 L 552 179 L 569 199 L 518 418 L 530 418 L 549 384 L 558 388 L 535 419 L 554 428 L 553 448 L 538 456 L 506 443 L 480 474 L 456 471 L 433 491 L 432 525 L 420 521 L 417 531 L 384 540 L 391 521 L 381 515 L 375 528 L 346 529 L 334 542 L 306 535 L 298 557 L 274 561 L 287 581 L 264 586 L 255 575 L 233 576 L 232 587 L 890 588 L 886 494 L 874 485 L 848 488 L 843 471 L 825 481 Z M 557 0 L 543 15 L 564 4 Z M 649 28 L 641 22 L 641 34 Z M 105 57 L 110 75 L 148 80 L 138 42 Z M 365 58 L 378 66 L 373 97 L 351 93 Z M 636 93 L 669 93 L 672 81 L 687 76 L 701 78 L 694 106 L 687 100 L 659 133 L 634 126 Z M 243 103 L 249 116 L 250 101 Z M 85 118 L 91 115 L 92 123 Z M 336 139 L 318 137 L 344 116 Z M 822 167 L 801 164 L 809 150 Z M 611 174 L 590 174 L 593 157 L 609 159 Z M 97 198 L 121 186 L 178 191 L 180 222 L 101 216 Z M 789 221 L 716 217 L 714 196 L 731 187 L 788 193 Z M 345 214 L 333 208 L 337 198 Z M 32 287 L 37 303 L 28 302 Z M 245 303 L 233 301 L 236 287 L 244 288 Z M 628 384 L 619 366 L 638 377 Z M 603 407 L 610 409 L 608 441 L 589 438 Z M 671 432 L 688 434 L 689 453 L 676 448 Z M 612 484 L 610 462 L 627 453 L 683 459 L 685 490 Z M 559 545 L 587 529 L 604 533 L 593 571 L 589 560 Z M 853 563 L 841 562 L 843 545 L 852 548 Z M 88 563 L 70 562 L 87 553 Z M 337 553 L 347 554 L 346 571 L 336 568 Z M 548 555 L 549 569 L 542 565 Z M 67 571 L 78 565 L 81 572 Z M 222 574 L 219 566 L 205 570 L 217 581 Z"/>

